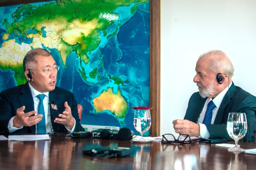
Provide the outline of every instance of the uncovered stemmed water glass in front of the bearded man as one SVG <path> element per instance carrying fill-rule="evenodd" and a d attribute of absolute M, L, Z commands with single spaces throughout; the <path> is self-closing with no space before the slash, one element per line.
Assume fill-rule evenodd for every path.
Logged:
<path fill-rule="evenodd" d="M 240 148 L 238 140 L 242 139 L 247 132 L 247 121 L 245 113 L 229 113 L 227 118 L 227 133 L 235 140 L 236 146 L 229 148 L 231 152 L 244 152 L 245 149 Z"/>

